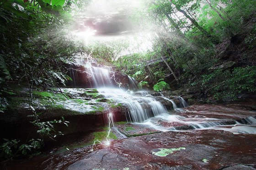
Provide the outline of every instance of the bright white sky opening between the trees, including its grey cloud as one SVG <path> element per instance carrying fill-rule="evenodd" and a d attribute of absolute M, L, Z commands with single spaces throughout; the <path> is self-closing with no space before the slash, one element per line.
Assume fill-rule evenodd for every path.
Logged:
<path fill-rule="evenodd" d="M 131 18 L 141 8 L 143 0 L 92 0 L 81 11 L 72 30 L 72 36 L 89 45 L 94 41 L 121 40 L 130 44 L 122 55 L 144 52 L 151 48 L 148 39 L 152 33 L 141 30 Z M 135 16 L 136 17 L 136 16 Z M 141 17 L 141 16 L 137 16 Z M 136 18 L 140 19 L 140 18 Z"/>

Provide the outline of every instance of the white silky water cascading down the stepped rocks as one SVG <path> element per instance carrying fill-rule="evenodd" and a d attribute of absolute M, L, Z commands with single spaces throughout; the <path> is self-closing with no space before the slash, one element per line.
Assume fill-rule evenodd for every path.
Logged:
<path fill-rule="evenodd" d="M 87 75 L 89 76 L 87 78 L 92 80 L 91 86 L 101 88 L 98 89 L 98 91 L 101 95 L 104 95 L 106 99 L 111 99 L 115 102 L 121 103 L 122 105 L 126 105 L 128 108 L 128 114 L 126 115 L 127 121 L 131 121 L 138 125 L 146 125 L 160 131 L 209 128 L 225 130 L 225 125 L 233 125 L 234 127 L 232 127 L 231 130 L 229 128 L 229 131 L 245 131 L 244 133 L 246 133 L 246 130 L 240 130 L 239 127 L 236 127 L 236 125 L 254 125 L 256 122 L 254 117 L 248 117 L 244 120 L 245 123 L 240 124 L 235 120 L 230 121 L 213 118 L 187 118 L 184 116 L 174 115 L 173 112 L 170 112 L 170 110 L 166 110 L 165 106 L 157 99 L 157 97 L 149 95 L 147 91 L 133 92 L 134 89 L 137 89 L 137 85 L 132 77 L 128 76 L 129 85 L 128 90 L 125 91 L 120 88 L 122 83 L 120 80 L 116 79 L 115 74 L 112 76 L 110 75 L 110 69 L 95 67 L 89 62 L 86 63 L 85 67 L 87 68 L 86 71 Z M 114 88 L 114 85 L 118 85 L 119 88 Z M 173 100 L 171 100 L 160 93 L 160 97 L 163 100 L 170 101 L 175 111 L 181 112 L 181 114 L 187 112 L 185 108 L 188 107 L 188 104 L 181 96 L 174 96 Z M 175 103 L 175 101 L 179 103 Z M 122 138 L 125 138 L 126 136 L 120 133 L 120 131 L 114 126 L 112 116 L 112 114 L 109 114 L 108 116 L 109 123 L 111 122 L 112 124 L 112 128 L 110 128 L 109 124 L 108 134 L 112 129 L 116 132 L 116 134 Z M 163 122 L 166 125 L 161 125 L 159 122 Z M 246 127 L 244 129 L 247 129 L 247 132 L 255 132 L 255 129 L 251 127 Z M 109 144 L 109 139 L 107 138 L 106 140 L 107 143 L 104 145 Z"/>

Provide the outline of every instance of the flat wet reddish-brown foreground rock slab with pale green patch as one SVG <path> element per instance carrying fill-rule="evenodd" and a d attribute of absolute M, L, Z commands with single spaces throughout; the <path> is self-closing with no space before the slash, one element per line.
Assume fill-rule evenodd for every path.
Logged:
<path fill-rule="evenodd" d="M 54 155 L 36 169 L 256 170 L 256 135 L 223 130 L 169 131 L 79 150 Z"/>

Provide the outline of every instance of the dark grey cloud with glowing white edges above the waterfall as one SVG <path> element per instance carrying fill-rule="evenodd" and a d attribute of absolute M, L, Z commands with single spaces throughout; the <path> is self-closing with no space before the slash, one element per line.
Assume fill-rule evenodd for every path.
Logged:
<path fill-rule="evenodd" d="M 94 30 L 95 36 L 131 34 L 134 25 L 131 23 L 128 11 L 133 8 L 133 3 L 129 3 L 131 1 L 128 0 L 94 0 L 75 23 L 75 30 L 79 32 Z"/>

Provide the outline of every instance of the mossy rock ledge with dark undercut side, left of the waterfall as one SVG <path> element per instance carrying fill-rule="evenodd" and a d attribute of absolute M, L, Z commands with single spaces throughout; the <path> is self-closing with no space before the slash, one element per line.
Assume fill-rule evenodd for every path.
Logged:
<path fill-rule="evenodd" d="M 61 131 L 65 136 L 59 136 L 61 143 L 67 135 L 87 133 L 95 128 L 107 125 L 107 114 L 112 112 L 114 121 L 126 120 L 128 110 L 124 106 L 111 108 L 113 103 L 101 98 L 96 89 L 61 88 L 55 91 L 33 90 L 34 107 L 40 121 L 64 120 L 69 121 L 69 127 L 62 124 L 54 124 L 54 130 Z M 27 140 L 40 138 L 37 129 L 31 123 L 34 121 L 32 108 L 28 104 L 27 90 L 22 90 L 22 95 L 12 95 L 9 99 L 8 109 L 0 116 L 0 135 L 6 139 Z M 23 93 L 26 97 L 23 97 Z M 67 97 L 65 97 L 66 95 Z M 70 96 L 70 97 L 68 97 Z M 8 129 L 8 130 L 6 130 Z M 45 139 L 48 142 L 51 139 Z"/>

